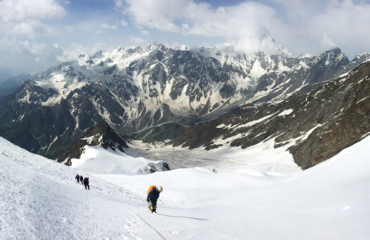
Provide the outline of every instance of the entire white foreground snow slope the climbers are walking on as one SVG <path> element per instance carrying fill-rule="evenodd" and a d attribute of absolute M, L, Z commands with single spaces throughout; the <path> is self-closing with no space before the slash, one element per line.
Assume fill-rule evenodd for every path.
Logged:
<path fill-rule="evenodd" d="M 369 156 L 367 137 L 306 171 L 132 176 L 84 172 L 0 138 L 0 239 L 369 239 Z M 145 202 L 152 184 L 164 187 L 158 215 Z"/>

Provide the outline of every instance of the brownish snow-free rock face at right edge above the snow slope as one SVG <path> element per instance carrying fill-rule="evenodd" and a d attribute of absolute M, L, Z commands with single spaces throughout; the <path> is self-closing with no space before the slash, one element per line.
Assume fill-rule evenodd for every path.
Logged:
<path fill-rule="evenodd" d="M 370 133 L 369 94 L 369 63 L 357 67 L 347 78 L 328 84 L 323 97 L 330 105 L 317 109 L 322 126 L 290 149 L 296 162 L 303 168 L 314 166 L 367 136 Z M 337 106 L 335 112 L 330 111 L 333 106 Z"/>

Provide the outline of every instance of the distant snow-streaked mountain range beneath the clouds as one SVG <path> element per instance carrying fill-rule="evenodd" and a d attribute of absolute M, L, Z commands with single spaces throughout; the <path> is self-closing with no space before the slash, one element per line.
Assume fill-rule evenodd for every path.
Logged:
<path fill-rule="evenodd" d="M 102 121 L 120 133 L 191 126 L 240 104 L 281 102 L 367 59 L 350 62 L 338 48 L 305 58 L 159 43 L 99 51 L 39 73 L 1 100 L 0 136 L 55 158 Z"/>

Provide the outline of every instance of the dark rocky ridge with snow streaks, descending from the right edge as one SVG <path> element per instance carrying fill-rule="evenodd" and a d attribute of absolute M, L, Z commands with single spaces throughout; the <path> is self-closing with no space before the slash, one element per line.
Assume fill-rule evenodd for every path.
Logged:
<path fill-rule="evenodd" d="M 209 150 L 221 146 L 215 143 L 217 139 L 242 148 L 274 139 L 275 148 L 290 144 L 295 162 L 307 169 L 370 134 L 369 96 L 370 62 L 366 62 L 346 76 L 281 104 L 187 128 L 171 144 Z"/>

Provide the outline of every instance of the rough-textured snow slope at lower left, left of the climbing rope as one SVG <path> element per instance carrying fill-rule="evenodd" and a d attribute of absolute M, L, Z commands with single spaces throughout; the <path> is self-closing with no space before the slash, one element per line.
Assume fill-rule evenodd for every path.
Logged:
<path fill-rule="evenodd" d="M 161 239 L 123 205 L 123 195 L 139 197 L 120 187 L 90 176 L 87 191 L 70 167 L 4 139 L 0 164 L 0 239 Z"/>

